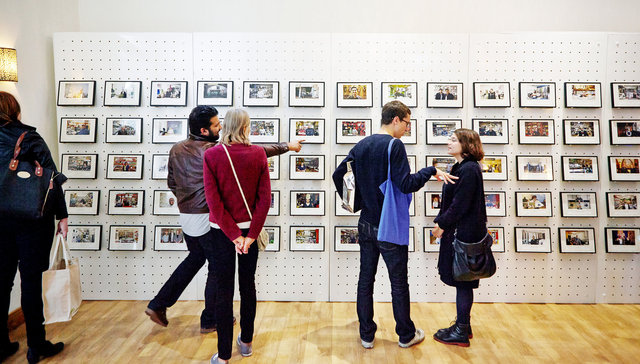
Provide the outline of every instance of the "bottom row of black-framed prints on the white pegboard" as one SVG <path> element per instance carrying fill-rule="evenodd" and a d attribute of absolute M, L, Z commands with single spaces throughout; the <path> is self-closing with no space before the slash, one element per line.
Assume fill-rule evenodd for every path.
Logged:
<path fill-rule="evenodd" d="M 109 250 L 143 251 L 145 242 L 144 225 L 109 226 Z M 269 243 L 265 251 L 278 252 L 281 249 L 279 226 L 265 225 Z M 290 226 L 289 251 L 325 251 L 324 226 Z M 334 227 L 334 251 L 357 252 L 358 228 L 355 226 Z M 415 228 L 409 228 L 410 252 L 415 251 Z M 438 252 L 440 239 L 431 232 L 432 227 L 423 228 L 423 251 Z M 488 227 L 493 237 L 494 252 L 505 252 L 505 231 L 503 227 Z M 71 250 L 100 250 L 102 225 L 69 225 L 69 248 Z M 640 229 L 628 227 L 605 228 L 607 253 L 640 253 Z M 558 228 L 560 253 L 595 253 L 595 229 L 585 227 Z M 153 250 L 187 250 L 184 234 L 178 225 L 156 225 Z M 551 253 L 551 228 L 515 227 L 515 251 L 517 253 Z"/>

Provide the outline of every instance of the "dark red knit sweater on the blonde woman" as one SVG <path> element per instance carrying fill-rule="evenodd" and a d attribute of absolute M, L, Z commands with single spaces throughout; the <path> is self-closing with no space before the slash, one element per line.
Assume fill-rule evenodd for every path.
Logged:
<path fill-rule="evenodd" d="M 227 150 L 253 219 L 249 218 L 227 154 L 222 145 L 217 145 L 204 153 L 204 192 L 209 205 L 209 221 L 218 224 L 233 241 L 242 235 L 237 223 L 251 220 L 248 237 L 256 239 L 271 205 L 267 156 L 263 148 L 255 145 L 232 144 Z"/>

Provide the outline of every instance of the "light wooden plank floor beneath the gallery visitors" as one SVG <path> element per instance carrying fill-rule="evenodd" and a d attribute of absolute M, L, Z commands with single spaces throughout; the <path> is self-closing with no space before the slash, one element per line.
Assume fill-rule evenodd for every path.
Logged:
<path fill-rule="evenodd" d="M 181 301 L 163 328 L 143 313 L 146 301 L 86 301 L 70 323 L 47 326 L 65 350 L 44 363 L 208 363 L 215 333 L 200 334 L 203 303 Z M 239 311 L 235 303 L 234 312 Z M 259 302 L 254 355 L 242 363 L 640 363 L 640 305 L 475 304 L 469 348 L 431 335 L 455 316 L 452 303 L 414 303 L 412 318 L 427 335 L 410 349 L 397 345 L 390 303 L 375 304 L 375 348 L 359 344 L 355 303 Z M 236 334 L 239 325 L 235 326 Z M 24 325 L 12 332 L 26 363 Z"/>

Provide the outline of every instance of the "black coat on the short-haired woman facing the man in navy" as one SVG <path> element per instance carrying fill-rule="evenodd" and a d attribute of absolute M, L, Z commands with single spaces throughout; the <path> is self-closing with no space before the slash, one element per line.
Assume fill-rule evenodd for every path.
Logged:
<path fill-rule="evenodd" d="M 444 230 L 440 239 L 438 272 L 440 279 L 456 287 L 478 287 L 478 280 L 459 282 L 453 279 L 454 233 L 460 241 L 480 241 L 487 234 L 487 211 L 480 164 L 472 159 L 456 163 L 451 174 L 460 177 L 455 184 L 442 187 L 442 207 L 433 220 Z"/>

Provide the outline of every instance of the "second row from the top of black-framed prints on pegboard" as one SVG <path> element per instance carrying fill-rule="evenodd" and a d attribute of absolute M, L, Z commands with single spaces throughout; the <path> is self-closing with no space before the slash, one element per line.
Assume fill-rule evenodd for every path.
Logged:
<path fill-rule="evenodd" d="M 97 118 L 64 117 L 60 119 L 60 143 L 95 143 Z M 224 119 L 221 119 L 224 122 Z M 612 145 L 640 144 L 640 120 L 610 120 Z M 142 143 L 142 118 L 108 117 L 105 125 L 105 143 Z M 417 120 L 402 136 L 405 144 L 417 144 Z M 447 144 L 461 119 L 426 119 L 426 144 Z M 472 128 L 484 144 L 509 144 L 509 119 L 472 119 Z M 325 119 L 290 118 L 289 141 L 304 139 L 307 144 L 325 143 Z M 373 132 L 371 119 L 336 119 L 336 144 L 356 144 Z M 188 121 L 184 118 L 153 118 L 151 142 L 173 144 L 188 135 Z M 565 119 L 564 144 L 600 144 L 598 119 Z M 254 143 L 280 141 L 280 119 L 251 118 L 249 139 Z M 519 144 L 556 144 L 553 119 L 518 119 Z"/>

